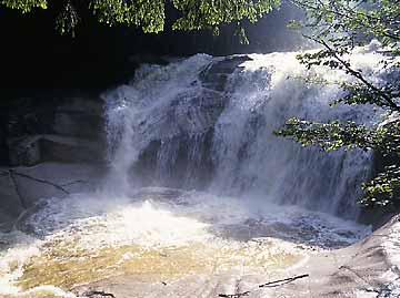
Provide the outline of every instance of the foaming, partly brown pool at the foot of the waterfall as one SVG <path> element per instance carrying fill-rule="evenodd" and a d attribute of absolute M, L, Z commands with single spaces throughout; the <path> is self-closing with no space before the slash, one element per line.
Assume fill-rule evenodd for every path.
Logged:
<path fill-rule="evenodd" d="M 369 228 L 327 214 L 170 188 L 46 199 L 0 236 L 3 297 L 76 297 L 111 276 L 173 282 L 273 274 L 359 240 Z"/>

